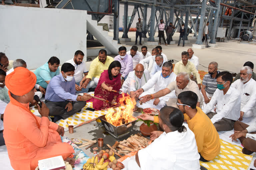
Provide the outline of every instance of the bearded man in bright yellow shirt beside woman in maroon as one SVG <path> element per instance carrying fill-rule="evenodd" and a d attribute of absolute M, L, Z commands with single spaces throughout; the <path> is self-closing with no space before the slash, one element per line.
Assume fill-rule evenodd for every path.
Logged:
<path fill-rule="evenodd" d="M 95 58 L 90 65 L 89 73 L 86 76 L 86 80 L 83 83 L 83 88 L 96 87 L 101 73 L 107 70 L 110 63 L 114 61 L 113 57 L 107 56 L 107 51 L 101 49 L 99 55 Z"/>

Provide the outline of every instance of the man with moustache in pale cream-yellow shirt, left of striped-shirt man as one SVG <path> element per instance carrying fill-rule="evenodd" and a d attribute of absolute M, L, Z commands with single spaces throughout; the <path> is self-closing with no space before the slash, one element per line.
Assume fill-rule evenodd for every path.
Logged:
<path fill-rule="evenodd" d="M 198 84 L 199 90 L 201 89 L 201 82 L 202 80 L 200 79 L 200 74 L 198 73 L 195 65 L 188 61 L 188 52 L 183 51 L 181 53 L 181 61 L 177 62 L 174 66 L 173 72 L 178 75 L 180 72 L 187 72 L 188 75 L 191 75 L 191 72 L 193 73 L 194 77 L 196 77 L 196 81 Z"/>

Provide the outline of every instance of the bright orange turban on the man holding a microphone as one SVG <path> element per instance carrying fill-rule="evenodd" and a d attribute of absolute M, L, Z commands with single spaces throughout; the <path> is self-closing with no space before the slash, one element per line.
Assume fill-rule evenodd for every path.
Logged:
<path fill-rule="evenodd" d="M 36 84 L 36 75 L 24 67 L 17 67 L 5 77 L 5 85 L 9 91 L 17 96 L 30 92 Z"/>

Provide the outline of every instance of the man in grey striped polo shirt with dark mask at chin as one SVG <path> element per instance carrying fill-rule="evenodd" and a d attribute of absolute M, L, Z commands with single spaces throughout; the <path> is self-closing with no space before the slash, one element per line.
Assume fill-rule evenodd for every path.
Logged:
<path fill-rule="evenodd" d="M 201 93 L 204 97 L 203 108 L 210 102 L 213 93 L 217 89 L 216 75 L 219 73 L 218 63 L 213 61 L 208 66 L 208 74 L 204 75 Z"/>

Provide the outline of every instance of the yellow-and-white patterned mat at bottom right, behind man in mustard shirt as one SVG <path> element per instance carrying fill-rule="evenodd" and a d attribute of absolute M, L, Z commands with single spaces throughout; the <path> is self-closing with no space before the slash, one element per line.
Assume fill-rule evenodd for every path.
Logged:
<path fill-rule="evenodd" d="M 208 170 L 227 169 L 227 170 L 247 170 L 252 161 L 251 155 L 242 153 L 242 147 L 228 143 L 222 139 L 221 149 L 218 156 L 210 162 L 201 162 L 200 165 Z"/>

